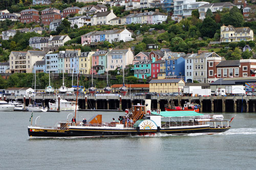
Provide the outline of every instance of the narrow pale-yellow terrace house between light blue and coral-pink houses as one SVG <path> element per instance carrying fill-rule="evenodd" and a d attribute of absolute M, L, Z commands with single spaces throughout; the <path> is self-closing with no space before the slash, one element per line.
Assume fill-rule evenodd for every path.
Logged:
<path fill-rule="evenodd" d="M 81 52 L 79 57 L 79 71 L 81 74 L 90 74 L 92 67 L 92 55 L 95 52 Z"/>

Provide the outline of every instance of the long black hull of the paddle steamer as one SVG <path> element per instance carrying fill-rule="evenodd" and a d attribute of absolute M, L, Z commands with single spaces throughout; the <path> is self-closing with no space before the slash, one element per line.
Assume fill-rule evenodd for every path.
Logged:
<path fill-rule="evenodd" d="M 230 128 L 230 127 L 229 127 Z M 53 129 L 33 129 L 28 128 L 30 137 L 110 137 L 110 136 L 142 136 L 165 134 L 189 134 L 189 133 L 220 133 L 229 130 L 229 128 L 189 128 L 189 129 L 159 129 L 159 130 L 102 130 L 102 129 L 69 129 L 69 130 L 53 130 Z"/>

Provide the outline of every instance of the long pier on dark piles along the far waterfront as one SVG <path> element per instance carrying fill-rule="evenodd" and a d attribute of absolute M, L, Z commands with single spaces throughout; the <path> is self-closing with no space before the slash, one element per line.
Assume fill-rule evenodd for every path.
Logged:
<path fill-rule="evenodd" d="M 75 101 L 75 94 L 59 94 L 60 99 Z M 148 98 L 148 96 L 147 96 Z M 175 103 L 175 106 L 183 106 L 185 102 L 194 102 L 201 105 L 200 112 L 255 112 L 256 96 L 161 96 L 150 95 L 152 110 L 164 111 L 164 105 L 168 102 Z M 56 95 L 41 94 L 36 96 L 25 95 L 9 95 L 2 100 L 7 102 L 17 99 L 22 101 L 26 106 L 35 100 L 37 103 L 42 103 L 48 106 L 49 101 L 55 100 Z M 146 95 L 116 95 L 116 96 L 97 96 L 97 95 L 78 95 L 78 105 L 82 110 L 125 110 L 132 105 L 144 105 Z M 24 102 L 25 100 L 25 102 Z"/>

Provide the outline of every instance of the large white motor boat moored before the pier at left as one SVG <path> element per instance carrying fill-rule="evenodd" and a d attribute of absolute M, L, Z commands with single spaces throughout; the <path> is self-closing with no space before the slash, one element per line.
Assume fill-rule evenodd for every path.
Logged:
<path fill-rule="evenodd" d="M 60 111 L 75 111 L 79 110 L 79 106 L 76 106 L 76 102 L 70 102 L 67 100 L 60 99 Z M 55 103 L 49 102 L 49 110 L 57 111 L 58 110 L 58 100 Z"/>

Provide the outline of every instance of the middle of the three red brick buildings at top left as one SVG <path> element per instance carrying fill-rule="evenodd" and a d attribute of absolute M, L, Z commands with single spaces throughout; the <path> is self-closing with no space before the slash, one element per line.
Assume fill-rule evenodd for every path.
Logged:
<path fill-rule="evenodd" d="M 60 10 L 47 8 L 41 11 L 41 21 L 44 25 L 50 25 L 51 21 L 61 19 Z"/>

